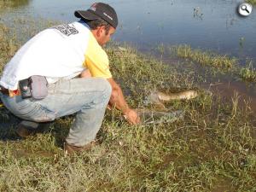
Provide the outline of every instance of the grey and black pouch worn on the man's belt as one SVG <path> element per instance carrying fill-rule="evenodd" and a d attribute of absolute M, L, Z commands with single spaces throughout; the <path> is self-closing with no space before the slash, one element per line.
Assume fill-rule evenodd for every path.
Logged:
<path fill-rule="evenodd" d="M 33 75 L 28 79 L 20 80 L 20 92 L 23 99 L 44 99 L 48 95 L 47 80 L 44 76 Z"/>

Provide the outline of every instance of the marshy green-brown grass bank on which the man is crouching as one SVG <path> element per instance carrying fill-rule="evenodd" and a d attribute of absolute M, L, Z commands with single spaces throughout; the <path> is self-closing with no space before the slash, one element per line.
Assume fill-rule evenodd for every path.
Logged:
<path fill-rule="evenodd" d="M 0 29 L 3 68 L 19 43 Z M 173 63 L 131 47 L 113 44 L 107 51 L 113 77 L 133 108 L 154 108 L 143 104 L 150 90 L 197 87 L 194 73 L 179 73 Z M 247 103 L 239 108 L 239 102 L 236 94 L 226 101 L 200 90 L 191 101 L 166 103 L 170 110 L 183 109 L 184 119 L 157 126 L 130 126 L 118 111 L 108 111 L 97 135 L 100 145 L 74 157 L 62 150 L 73 116 L 17 140 L 18 119 L 1 108 L 0 191 L 255 191 L 255 120 Z"/>

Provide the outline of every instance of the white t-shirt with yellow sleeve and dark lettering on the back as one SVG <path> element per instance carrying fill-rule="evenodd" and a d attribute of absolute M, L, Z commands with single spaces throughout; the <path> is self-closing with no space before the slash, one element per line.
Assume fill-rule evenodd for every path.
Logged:
<path fill-rule="evenodd" d="M 59 79 L 72 79 L 85 68 L 90 73 L 100 68 L 101 73 L 93 76 L 110 78 L 108 66 L 108 55 L 97 44 L 89 26 L 79 21 L 51 27 L 30 39 L 5 66 L 0 84 L 17 90 L 19 81 L 32 75 L 45 76 L 51 84 Z"/>

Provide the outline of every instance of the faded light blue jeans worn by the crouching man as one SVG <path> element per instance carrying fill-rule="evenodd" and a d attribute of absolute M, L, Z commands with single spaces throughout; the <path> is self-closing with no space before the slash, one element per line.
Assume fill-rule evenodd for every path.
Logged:
<path fill-rule="evenodd" d="M 3 94 L 0 96 L 11 113 L 27 121 L 47 122 L 77 113 L 66 141 L 81 147 L 95 139 L 111 92 L 111 85 L 106 79 L 79 78 L 49 84 L 48 96 L 43 100 L 22 99 L 21 96 L 9 97 Z"/>

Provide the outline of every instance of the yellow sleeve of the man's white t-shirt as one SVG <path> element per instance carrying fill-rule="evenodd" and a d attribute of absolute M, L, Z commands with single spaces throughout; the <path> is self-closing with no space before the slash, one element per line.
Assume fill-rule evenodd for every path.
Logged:
<path fill-rule="evenodd" d="M 92 77 L 112 78 L 112 74 L 109 71 L 108 55 L 97 43 L 91 32 L 85 53 L 84 67 L 90 70 Z"/>

